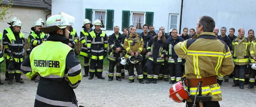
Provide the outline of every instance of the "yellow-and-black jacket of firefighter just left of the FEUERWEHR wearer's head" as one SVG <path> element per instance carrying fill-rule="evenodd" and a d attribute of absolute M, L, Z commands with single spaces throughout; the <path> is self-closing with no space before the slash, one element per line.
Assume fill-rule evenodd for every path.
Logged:
<path fill-rule="evenodd" d="M 28 43 L 30 43 L 30 46 L 35 46 L 35 45 L 40 45 L 40 41 L 38 40 L 42 40 L 43 42 L 46 41 L 47 35 L 44 34 L 43 32 L 40 33 L 40 38 L 36 35 L 36 33 L 34 31 L 30 31 L 30 35 L 34 38 L 32 40 L 30 40 L 30 37 L 28 37 Z M 31 41 L 33 43 L 31 43 Z"/>

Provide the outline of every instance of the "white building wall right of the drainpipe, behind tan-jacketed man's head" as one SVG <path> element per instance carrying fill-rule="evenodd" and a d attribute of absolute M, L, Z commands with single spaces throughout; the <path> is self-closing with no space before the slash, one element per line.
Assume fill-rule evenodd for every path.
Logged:
<path fill-rule="evenodd" d="M 226 35 L 231 27 L 235 28 L 235 35 L 238 29 L 245 29 L 245 36 L 249 29 L 256 30 L 256 0 L 184 0 L 182 15 L 182 28 L 196 28 L 198 18 L 211 16 L 215 20 L 216 27 L 227 28 Z"/>

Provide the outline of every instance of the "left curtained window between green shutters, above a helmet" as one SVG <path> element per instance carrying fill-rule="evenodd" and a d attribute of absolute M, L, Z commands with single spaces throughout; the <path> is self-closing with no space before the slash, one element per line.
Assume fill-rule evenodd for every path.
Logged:
<path fill-rule="evenodd" d="M 106 11 L 104 10 L 95 10 L 95 17 L 94 19 L 99 19 L 102 23 L 101 28 L 105 28 L 106 25 Z"/>

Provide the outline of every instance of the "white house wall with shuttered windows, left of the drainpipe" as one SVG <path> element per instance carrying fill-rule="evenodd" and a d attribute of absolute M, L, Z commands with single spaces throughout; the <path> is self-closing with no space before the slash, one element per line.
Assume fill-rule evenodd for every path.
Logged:
<path fill-rule="evenodd" d="M 180 0 L 52 0 L 52 15 L 59 12 L 66 12 L 76 18 L 73 27 L 79 31 L 82 30 L 83 20 L 85 18 L 85 9 L 93 10 L 114 10 L 114 26 L 120 27 L 122 33 L 122 11 L 128 10 L 132 12 L 154 12 L 154 27 L 156 30 L 164 26 L 168 32 L 169 14 L 180 14 Z M 64 8 L 66 7 L 66 8 Z M 94 14 L 93 14 L 94 15 Z M 180 16 L 178 15 L 179 23 Z M 93 18 L 94 19 L 94 16 Z M 144 19 L 145 20 L 145 19 Z M 132 14 L 130 15 L 130 22 Z M 92 21 L 93 23 L 93 21 Z M 132 25 L 130 23 L 130 25 Z M 177 28 L 179 25 L 177 26 Z M 138 32 L 138 31 L 137 31 Z M 142 31 L 140 31 L 142 32 Z M 106 31 L 107 35 L 111 35 L 114 31 Z"/>

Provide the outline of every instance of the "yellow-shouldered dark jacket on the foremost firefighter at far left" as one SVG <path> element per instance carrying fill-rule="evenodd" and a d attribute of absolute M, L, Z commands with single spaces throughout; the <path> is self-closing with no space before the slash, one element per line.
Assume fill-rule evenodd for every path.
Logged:
<path fill-rule="evenodd" d="M 4 48 L 8 49 L 7 51 L 12 54 L 13 57 L 10 57 L 9 55 L 6 56 L 7 59 L 14 60 L 15 62 L 22 62 L 23 61 L 23 46 L 24 46 L 24 37 L 25 35 L 20 32 L 19 37 L 20 40 L 16 41 L 16 38 L 13 33 L 7 33 L 6 34 L 8 39 L 10 40 L 10 43 L 8 45 L 4 46 Z M 18 49 L 18 50 L 12 50 L 12 49 Z M 13 59 L 12 59 L 13 58 Z"/>

